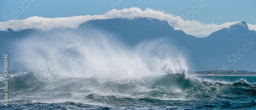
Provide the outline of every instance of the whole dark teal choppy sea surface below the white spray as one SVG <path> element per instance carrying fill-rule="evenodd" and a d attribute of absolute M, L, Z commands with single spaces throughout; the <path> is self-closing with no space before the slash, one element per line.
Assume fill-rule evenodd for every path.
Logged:
<path fill-rule="evenodd" d="M 15 71 L 8 81 L 8 106 L 2 90 L 0 109 L 256 109 L 256 76 L 180 72 L 122 79 L 45 78 L 35 71 Z"/>

